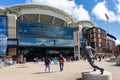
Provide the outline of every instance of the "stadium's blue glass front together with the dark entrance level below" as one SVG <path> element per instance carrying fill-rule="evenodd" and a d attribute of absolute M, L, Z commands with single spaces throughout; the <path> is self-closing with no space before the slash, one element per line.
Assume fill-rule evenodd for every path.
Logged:
<path fill-rule="evenodd" d="M 18 54 L 27 60 L 34 57 L 74 56 L 73 32 L 75 27 L 58 26 L 45 23 L 17 21 Z"/>

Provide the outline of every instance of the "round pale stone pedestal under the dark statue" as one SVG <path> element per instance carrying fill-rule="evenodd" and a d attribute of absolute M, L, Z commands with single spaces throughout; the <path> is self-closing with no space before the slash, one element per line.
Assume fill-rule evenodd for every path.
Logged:
<path fill-rule="evenodd" d="M 104 71 L 104 74 L 100 74 L 100 71 L 84 70 L 82 71 L 82 80 L 112 80 L 112 73 Z"/>

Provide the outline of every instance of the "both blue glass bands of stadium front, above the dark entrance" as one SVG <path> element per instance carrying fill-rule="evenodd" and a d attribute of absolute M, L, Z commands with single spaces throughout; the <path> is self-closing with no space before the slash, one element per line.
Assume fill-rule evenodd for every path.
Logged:
<path fill-rule="evenodd" d="M 45 23 L 17 21 L 19 45 L 74 46 L 75 28 Z"/>

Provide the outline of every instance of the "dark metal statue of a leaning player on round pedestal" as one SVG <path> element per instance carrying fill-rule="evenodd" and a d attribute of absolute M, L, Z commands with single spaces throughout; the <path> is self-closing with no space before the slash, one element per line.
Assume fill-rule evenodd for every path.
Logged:
<path fill-rule="evenodd" d="M 93 52 L 92 51 L 95 51 L 91 46 L 86 46 L 85 43 L 83 43 L 81 45 L 81 52 L 82 54 L 84 54 L 88 60 L 88 62 L 90 63 L 90 65 L 94 68 L 93 71 L 96 71 L 96 69 L 100 70 L 101 71 L 101 74 L 103 74 L 104 72 L 104 69 L 103 68 L 100 68 L 98 66 L 96 66 L 94 64 L 94 55 L 93 55 Z"/>

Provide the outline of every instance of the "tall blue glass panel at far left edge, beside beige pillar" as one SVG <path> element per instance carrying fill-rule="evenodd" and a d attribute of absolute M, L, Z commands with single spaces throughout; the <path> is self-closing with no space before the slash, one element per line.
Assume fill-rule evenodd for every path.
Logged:
<path fill-rule="evenodd" d="M 0 16 L 0 55 L 6 54 L 7 48 L 7 17 Z"/>

